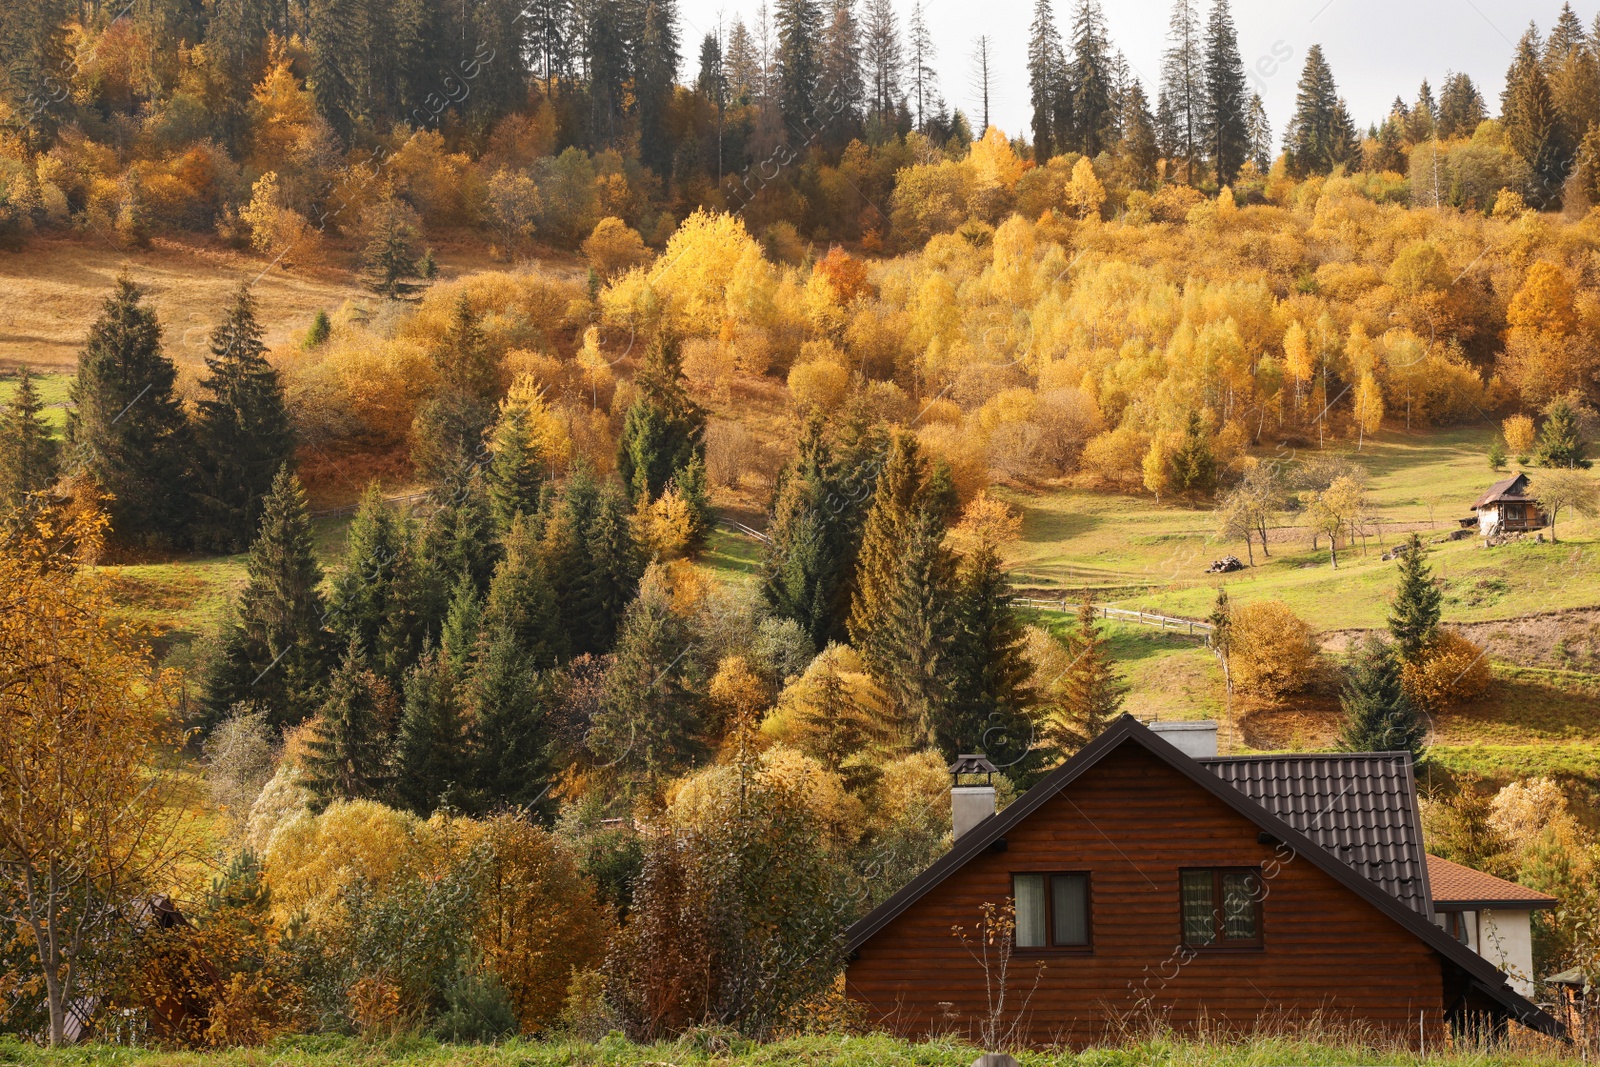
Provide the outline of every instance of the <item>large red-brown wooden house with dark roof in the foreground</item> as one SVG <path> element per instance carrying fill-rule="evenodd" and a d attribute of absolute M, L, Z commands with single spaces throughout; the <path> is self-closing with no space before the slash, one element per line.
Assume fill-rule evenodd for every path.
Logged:
<path fill-rule="evenodd" d="M 1317 1017 L 1413 1046 L 1485 1021 L 1562 1032 L 1438 925 L 1408 753 L 1216 758 L 1214 726 L 1187 726 L 1173 744 L 1118 718 L 856 923 L 845 989 L 867 1019 L 1035 1046 L 1152 1019 Z M 986 904 L 1014 907 L 1010 1019 L 998 955 L 954 933 Z"/>

